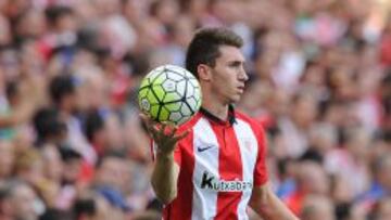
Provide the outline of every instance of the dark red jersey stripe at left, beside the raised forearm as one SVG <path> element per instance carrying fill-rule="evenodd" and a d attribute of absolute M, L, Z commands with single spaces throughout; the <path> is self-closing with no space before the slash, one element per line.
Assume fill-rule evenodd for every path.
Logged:
<path fill-rule="evenodd" d="M 189 122 L 181 126 L 178 132 L 184 132 L 201 118 L 201 115 L 195 115 Z M 190 220 L 192 210 L 192 192 L 193 183 L 192 176 L 194 170 L 194 154 L 193 154 L 193 130 L 178 143 L 180 151 L 180 172 L 178 177 L 178 193 L 177 197 L 166 206 L 163 210 L 164 220 Z"/>

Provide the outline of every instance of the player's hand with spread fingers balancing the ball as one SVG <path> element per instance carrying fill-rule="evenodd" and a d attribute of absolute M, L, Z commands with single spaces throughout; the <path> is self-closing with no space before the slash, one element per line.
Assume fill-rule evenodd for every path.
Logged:
<path fill-rule="evenodd" d="M 153 121 L 144 114 L 140 114 L 140 117 L 146 124 L 151 138 L 156 143 L 157 154 L 160 155 L 169 156 L 173 154 L 178 141 L 189 133 L 189 131 L 184 131 L 182 133 L 176 134 L 178 130 L 177 126 Z"/>

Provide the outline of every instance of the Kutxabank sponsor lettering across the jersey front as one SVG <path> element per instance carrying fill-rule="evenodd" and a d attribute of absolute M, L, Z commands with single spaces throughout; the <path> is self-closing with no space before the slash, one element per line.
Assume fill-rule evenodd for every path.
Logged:
<path fill-rule="evenodd" d="M 207 171 L 202 174 L 201 189 L 214 190 L 219 192 L 242 192 L 252 190 L 252 182 L 240 180 L 226 181 L 217 179 Z"/>

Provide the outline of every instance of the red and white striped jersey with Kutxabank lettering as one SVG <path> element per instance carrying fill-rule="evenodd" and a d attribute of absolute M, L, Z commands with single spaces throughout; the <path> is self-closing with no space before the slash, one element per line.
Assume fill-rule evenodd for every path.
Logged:
<path fill-rule="evenodd" d="M 258 122 L 230 111 L 222 121 L 201 109 L 179 130 L 190 130 L 175 150 L 177 197 L 164 220 L 248 219 L 252 189 L 267 181 L 265 134 Z"/>

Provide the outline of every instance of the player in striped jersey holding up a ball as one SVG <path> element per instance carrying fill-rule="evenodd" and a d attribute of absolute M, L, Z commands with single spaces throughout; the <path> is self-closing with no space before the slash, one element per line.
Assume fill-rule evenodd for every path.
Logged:
<path fill-rule="evenodd" d="M 228 29 L 198 31 L 186 67 L 200 81 L 202 108 L 178 129 L 142 115 L 156 145 L 152 186 L 163 219 L 248 219 L 248 205 L 267 220 L 297 219 L 267 184 L 263 129 L 232 106 L 248 80 L 241 46 Z"/>

